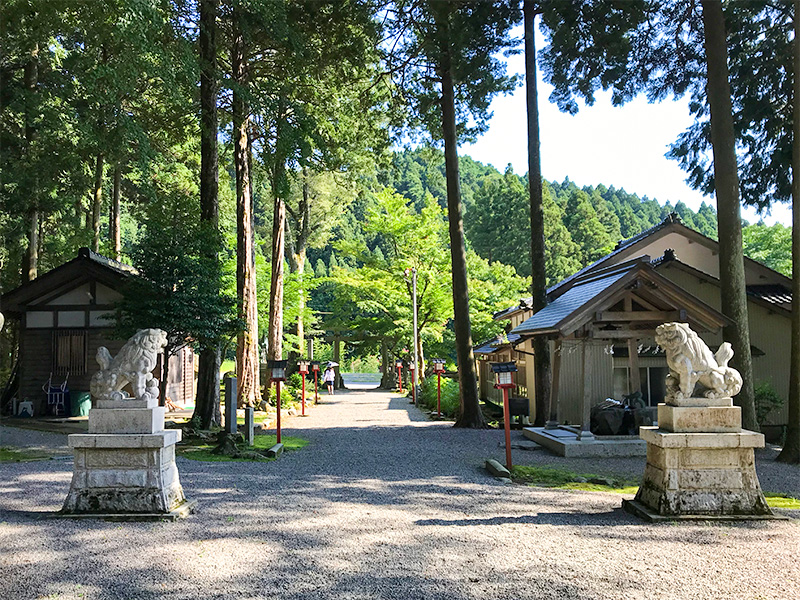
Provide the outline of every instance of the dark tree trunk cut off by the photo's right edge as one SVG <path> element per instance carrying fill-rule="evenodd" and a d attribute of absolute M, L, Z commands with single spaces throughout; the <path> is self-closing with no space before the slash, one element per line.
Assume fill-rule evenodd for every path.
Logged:
<path fill-rule="evenodd" d="M 792 355 L 789 369 L 789 422 L 780 462 L 800 463 L 800 0 L 794 0 L 792 42 Z"/>

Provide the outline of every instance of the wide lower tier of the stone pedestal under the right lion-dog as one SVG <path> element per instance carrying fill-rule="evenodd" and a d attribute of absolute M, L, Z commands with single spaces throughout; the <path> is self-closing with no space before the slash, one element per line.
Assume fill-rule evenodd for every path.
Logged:
<path fill-rule="evenodd" d="M 740 433 L 671 433 L 642 427 L 647 464 L 636 502 L 664 517 L 771 515 L 753 448 L 764 437 Z"/>

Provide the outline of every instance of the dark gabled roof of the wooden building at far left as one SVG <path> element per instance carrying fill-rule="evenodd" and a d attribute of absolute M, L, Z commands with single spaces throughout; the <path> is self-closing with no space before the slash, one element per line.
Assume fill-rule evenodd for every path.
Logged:
<path fill-rule="evenodd" d="M 130 265 L 81 248 L 71 261 L 0 296 L 0 307 L 6 314 L 19 314 L 30 302 L 56 290 L 68 291 L 89 280 L 116 289 L 125 279 L 137 274 Z"/>

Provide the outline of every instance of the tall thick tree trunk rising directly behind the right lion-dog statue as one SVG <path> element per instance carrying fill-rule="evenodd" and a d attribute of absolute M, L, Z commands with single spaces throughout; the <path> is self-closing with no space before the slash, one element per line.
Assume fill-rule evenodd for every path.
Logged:
<path fill-rule="evenodd" d="M 706 92 L 711 108 L 711 146 L 714 151 L 714 188 L 719 227 L 720 294 L 722 313 L 732 321 L 723 330 L 723 337 L 733 346 L 731 364 L 742 374 L 744 381 L 742 391 L 736 397 L 736 403 L 742 407 L 742 426 L 758 431 L 725 17 L 720 0 L 703 0 L 702 6 L 708 71 Z"/>

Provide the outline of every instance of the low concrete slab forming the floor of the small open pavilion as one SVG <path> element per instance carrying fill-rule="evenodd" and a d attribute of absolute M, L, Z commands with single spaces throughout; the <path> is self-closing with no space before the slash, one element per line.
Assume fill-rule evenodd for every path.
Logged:
<path fill-rule="evenodd" d="M 565 458 L 647 456 L 647 443 L 636 436 L 594 436 L 590 440 L 579 440 L 574 431 L 544 427 L 525 427 L 522 434 Z"/>

